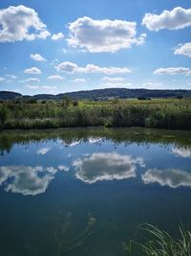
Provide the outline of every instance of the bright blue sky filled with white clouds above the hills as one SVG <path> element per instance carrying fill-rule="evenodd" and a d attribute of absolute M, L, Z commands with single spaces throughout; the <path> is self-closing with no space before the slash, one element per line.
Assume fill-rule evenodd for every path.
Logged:
<path fill-rule="evenodd" d="M 190 0 L 0 1 L 0 90 L 191 89 Z"/>

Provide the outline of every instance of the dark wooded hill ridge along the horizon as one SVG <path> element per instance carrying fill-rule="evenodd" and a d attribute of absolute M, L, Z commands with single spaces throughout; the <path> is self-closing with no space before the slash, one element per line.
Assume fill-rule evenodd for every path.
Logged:
<path fill-rule="evenodd" d="M 0 91 L 0 100 L 11 100 L 17 98 L 36 99 L 36 100 L 60 100 L 63 97 L 70 97 L 75 100 L 106 100 L 108 98 L 176 98 L 191 97 L 191 90 L 150 90 L 150 89 L 126 89 L 108 88 L 89 91 L 76 91 L 69 93 L 37 94 L 33 96 L 22 95 L 11 91 Z"/>

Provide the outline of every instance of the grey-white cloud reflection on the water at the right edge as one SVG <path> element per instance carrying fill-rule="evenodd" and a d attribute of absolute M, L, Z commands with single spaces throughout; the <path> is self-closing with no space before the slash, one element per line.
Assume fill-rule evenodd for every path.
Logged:
<path fill-rule="evenodd" d="M 191 174 L 178 169 L 151 169 L 141 178 L 145 184 L 159 183 L 161 186 L 178 188 L 180 186 L 191 187 Z"/>

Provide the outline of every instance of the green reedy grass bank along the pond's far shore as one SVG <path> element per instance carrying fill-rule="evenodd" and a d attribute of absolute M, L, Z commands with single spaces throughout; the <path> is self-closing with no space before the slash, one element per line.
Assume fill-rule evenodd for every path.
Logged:
<path fill-rule="evenodd" d="M 0 127 L 144 127 L 191 129 L 191 100 L 108 102 L 9 101 L 0 104 Z"/>

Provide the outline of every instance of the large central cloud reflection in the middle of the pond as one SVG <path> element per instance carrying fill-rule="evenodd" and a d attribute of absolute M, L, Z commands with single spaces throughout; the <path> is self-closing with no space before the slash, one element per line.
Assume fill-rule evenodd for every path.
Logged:
<path fill-rule="evenodd" d="M 74 161 L 76 178 L 85 183 L 136 177 L 137 165 L 144 166 L 141 158 L 132 158 L 117 152 L 95 152 Z"/>

